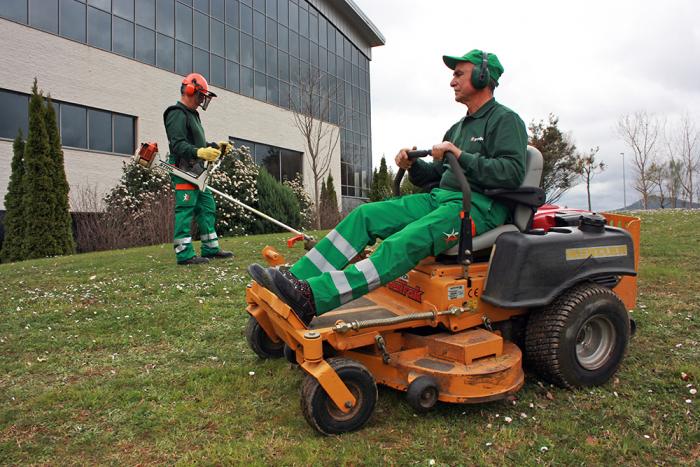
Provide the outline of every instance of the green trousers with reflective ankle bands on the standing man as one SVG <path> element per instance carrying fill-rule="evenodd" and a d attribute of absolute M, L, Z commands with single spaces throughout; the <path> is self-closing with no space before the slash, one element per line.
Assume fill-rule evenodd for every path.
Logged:
<path fill-rule="evenodd" d="M 197 221 L 202 240 L 202 256 L 219 251 L 216 224 L 216 202 L 210 191 L 199 189 L 179 177 L 172 177 L 175 187 L 175 256 L 177 261 L 187 261 L 195 256 L 192 247 L 192 220 Z"/>

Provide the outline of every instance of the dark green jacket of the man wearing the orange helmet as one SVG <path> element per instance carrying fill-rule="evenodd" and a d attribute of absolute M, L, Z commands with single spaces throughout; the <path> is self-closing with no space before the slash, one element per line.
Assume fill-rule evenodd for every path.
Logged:
<path fill-rule="evenodd" d="M 178 102 L 165 109 L 163 122 L 170 144 L 169 162 L 176 164 L 180 159 L 190 163 L 196 161 L 197 149 L 207 145 L 199 113 Z"/>

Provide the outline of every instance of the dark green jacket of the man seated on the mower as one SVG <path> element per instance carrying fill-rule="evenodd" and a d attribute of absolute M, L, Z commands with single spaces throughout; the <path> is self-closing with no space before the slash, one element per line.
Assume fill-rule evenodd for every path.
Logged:
<path fill-rule="evenodd" d="M 459 164 L 477 193 L 489 188 L 517 188 L 525 177 L 525 123 L 494 98 L 476 113 L 467 114 L 452 125 L 443 141 L 450 141 L 462 150 Z M 457 177 L 446 159 L 416 160 L 409 174 L 415 185 L 439 181 L 440 188 L 460 191 Z"/>

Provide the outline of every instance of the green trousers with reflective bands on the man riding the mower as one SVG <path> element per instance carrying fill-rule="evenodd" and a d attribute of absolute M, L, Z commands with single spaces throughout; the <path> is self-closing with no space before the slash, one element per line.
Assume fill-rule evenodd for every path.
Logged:
<path fill-rule="evenodd" d="M 308 282 L 320 315 L 391 282 L 427 256 L 457 244 L 461 210 L 462 193 L 441 188 L 363 204 L 297 261 L 291 272 Z M 478 235 L 503 224 L 508 210 L 474 192 L 470 215 L 472 233 Z M 346 268 L 376 239 L 383 241 L 372 255 Z"/>

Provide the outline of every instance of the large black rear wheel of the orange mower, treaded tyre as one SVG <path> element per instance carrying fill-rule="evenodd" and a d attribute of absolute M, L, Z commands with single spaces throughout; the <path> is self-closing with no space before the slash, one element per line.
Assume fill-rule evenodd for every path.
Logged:
<path fill-rule="evenodd" d="M 619 368 L 629 337 L 622 301 L 612 290 L 587 282 L 530 315 L 526 361 L 557 386 L 599 386 Z"/>

